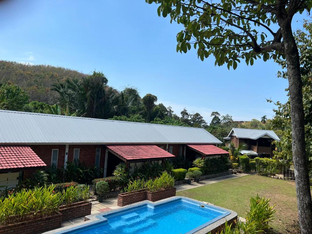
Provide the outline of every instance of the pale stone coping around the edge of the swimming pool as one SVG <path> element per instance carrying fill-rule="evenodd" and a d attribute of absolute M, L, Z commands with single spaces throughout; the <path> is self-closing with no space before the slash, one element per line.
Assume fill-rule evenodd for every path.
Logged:
<path fill-rule="evenodd" d="M 216 209 L 220 209 L 222 211 L 225 211 L 225 212 L 229 212 L 229 214 L 227 214 L 225 217 L 222 217 L 216 221 L 213 221 L 212 223 L 205 223 L 207 224 L 206 226 L 202 227 L 203 225 L 205 224 L 202 224 L 200 226 L 198 226 L 197 228 L 200 228 L 199 230 L 196 230 L 195 232 L 187 232 L 186 234 L 188 233 L 192 233 L 192 234 L 206 234 L 210 231 L 212 231 L 213 229 L 219 227 L 220 225 L 224 224 L 224 222 L 226 220 L 231 220 L 232 218 L 234 217 L 237 217 L 237 213 L 232 211 L 232 210 L 229 210 L 229 209 L 226 209 L 224 207 L 219 207 L 219 206 L 216 206 L 212 203 L 209 203 L 209 202 L 202 202 L 202 201 L 198 201 L 198 200 L 195 200 L 195 199 L 192 199 L 192 198 L 189 198 L 189 197 L 183 197 L 183 196 L 175 196 L 175 197 L 168 197 L 168 198 L 165 198 L 165 199 L 162 199 L 162 200 L 159 200 L 159 201 L 156 201 L 156 202 L 151 202 L 151 201 L 148 201 L 148 200 L 144 200 L 144 201 L 141 201 L 141 202 L 136 202 L 136 203 L 132 203 L 132 204 L 129 204 L 129 205 L 126 205 L 124 207 L 120 207 L 119 209 L 115 209 L 115 210 L 109 210 L 109 211 L 105 211 L 105 212 L 100 212 L 100 213 L 97 213 L 97 214 L 91 214 L 91 215 L 87 215 L 85 216 L 85 218 L 89 219 L 83 223 L 76 223 L 76 224 L 73 224 L 71 226 L 67 226 L 67 227 L 61 227 L 61 228 L 57 228 L 57 229 L 54 229 L 54 230 L 51 230 L 51 231 L 48 231 L 48 232 L 44 232 L 42 234 L 66 234 L 66 232 L 70 232 L 70 231 L 73 231 L 76 229 L 76 227 L 86 227 L 86 226 L 89 226 L 89 225 L 92 225 L 92 224 L 97 224 L 97 223 L 100 223 L 100 222 L 106 222 L 107 219 L 103 217 L 103 215 L 106 215 L 106 214 L 113 214 L 113 213 L 116 213 L 116 212 L 120 212 L 120 211 L 124 211 L 124 210 L 128 210 L 128 209 L 131 209 L 131 208 L 134 208 L 134 207 L 137 207 L 137 206 L 140 206 L 140 205 L 146 205 L 146 204 L 151 204 L 151 205 L 160 205 L 160 204 L 163 204 L 163 203 L 166 203 L 166 202 L 170 202 L 170 201 L 173 201 L 173 200 L 176 200 L 176 199 L 185 199 L 185 200 L 190 200 L 192 202 L 196 202 L 196 203 L 203 203 L 204 205 L 209 205 L 213 208 L 216 208 Z M 91 224 L 92 223 L 92 224 Z M 197 228 L 194 228 L 194 229 L 197 229 Z M 193 230 L 194 230 L 193 229 Z"/>

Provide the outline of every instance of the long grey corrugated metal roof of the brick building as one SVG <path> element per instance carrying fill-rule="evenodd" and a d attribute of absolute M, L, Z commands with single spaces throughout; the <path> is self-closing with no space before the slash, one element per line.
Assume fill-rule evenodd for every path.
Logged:
<path fill-rule="evenodd" d="M 202 128 L 0 110 L 0 144 L 222 142 Z"/>

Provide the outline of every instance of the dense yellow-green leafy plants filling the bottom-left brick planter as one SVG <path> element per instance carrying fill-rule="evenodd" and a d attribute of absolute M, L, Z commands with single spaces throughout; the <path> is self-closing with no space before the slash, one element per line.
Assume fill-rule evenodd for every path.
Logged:
<path fill-rule="evenodd" d="M 0 226 L 54 215 L 62 202 L 62 195 L 54 185 L 22 189 L 0 199 Z"/>

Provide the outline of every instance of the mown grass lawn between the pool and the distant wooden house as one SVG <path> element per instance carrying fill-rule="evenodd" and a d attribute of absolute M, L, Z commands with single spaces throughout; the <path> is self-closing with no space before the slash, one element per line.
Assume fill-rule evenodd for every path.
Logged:
<path fill-rule="evenodd" d="M 283 234 L 298 232 L 295 183 L 291 181 L 248 175 L 188 189 L 178 192 L 177 196 L 210 202 L 245 217 L 246 211 L 249 210 L 250 197 L 256 196 L 257 193 L 260 197 L 271 198 L 271 205 L 276 204 L 275 220 L 272 223 L 274 231 Z"/>

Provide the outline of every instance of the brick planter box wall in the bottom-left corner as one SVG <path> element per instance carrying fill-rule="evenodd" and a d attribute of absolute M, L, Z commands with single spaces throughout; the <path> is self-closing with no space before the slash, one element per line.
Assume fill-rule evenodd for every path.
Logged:
<path fill-rule="evenodd" d="M 0 234 L 36 234 L 61 227 L 62 214 L 0 226 Z"/>

